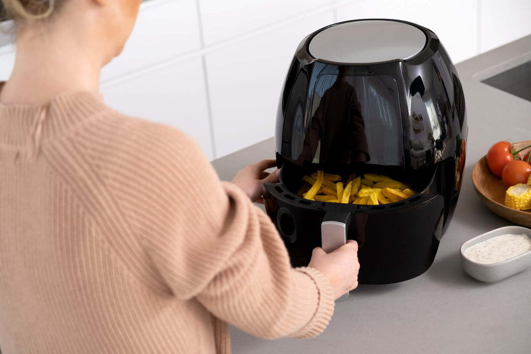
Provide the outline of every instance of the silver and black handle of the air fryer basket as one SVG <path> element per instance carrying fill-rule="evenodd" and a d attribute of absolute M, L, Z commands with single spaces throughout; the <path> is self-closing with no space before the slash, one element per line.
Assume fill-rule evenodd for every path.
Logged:
<path fill-rule="evenodd" d="M 347 232 L 351 220 L 350 213 L 328 212 L 324 216 L 321 223 L 321 246 L 324 252 L 330 253 L 347 243 Z M 347 298 L 348 292 L 337 301 L 343 301 Z"/>

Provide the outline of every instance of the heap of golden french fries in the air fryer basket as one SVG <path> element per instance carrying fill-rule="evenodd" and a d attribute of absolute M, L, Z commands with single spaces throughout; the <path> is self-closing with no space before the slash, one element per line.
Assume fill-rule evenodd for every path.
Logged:
<path fill-rule="evenodd" d="M 416 194 L 409 185 L 384 175 L 351 174 L 342 180 L 340 175 L 317 171 L 302 179 L 305 184 L 297 195 L 317 202 L 378 205 L 395 203 Z"/>

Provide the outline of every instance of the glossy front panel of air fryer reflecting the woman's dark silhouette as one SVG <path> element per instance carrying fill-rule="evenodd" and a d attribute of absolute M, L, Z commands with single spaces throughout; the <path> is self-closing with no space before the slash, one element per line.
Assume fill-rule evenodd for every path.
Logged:
<path fill-rule="evenodd" d="M 348 66 L 339 66 L 336 74 L 315 65 L 321 71 L 311 101 L 311 122 L 305 124 L 310 134 L 300 134 L 309 160 L 329 165 L 402 165 L 395 80 L 388 75 L 352 75 Z"/>

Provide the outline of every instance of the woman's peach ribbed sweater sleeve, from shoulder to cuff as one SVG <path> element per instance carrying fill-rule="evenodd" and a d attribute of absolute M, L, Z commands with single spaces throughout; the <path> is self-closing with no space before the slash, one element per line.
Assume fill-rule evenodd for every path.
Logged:
<path fill-rule="evenodd" d="M 275 226 L 237 186 L 220 182 L 177 129 L 107 117 L 80 148 L 131 222 L 172 295 L 262 338 L 321 333 L 333 313 L 328 280 L 292 269 Z"/>

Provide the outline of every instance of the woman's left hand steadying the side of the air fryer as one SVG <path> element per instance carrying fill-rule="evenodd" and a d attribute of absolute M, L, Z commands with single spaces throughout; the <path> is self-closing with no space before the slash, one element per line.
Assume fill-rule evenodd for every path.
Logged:
<path fill-rule="evenodd" d="M 240 187 L 245 194 L 249 195 L 251 201 L 263 204 L 262 194 L 264 193 L 264 183 L 278 183 L 280 170 L 269 174 L 265 172 L 268 168 L 277 166 L 276 160 L 262 160 L 253 165 L 241 169 L 232 180 L 232 183 Z"/>

